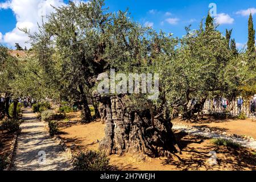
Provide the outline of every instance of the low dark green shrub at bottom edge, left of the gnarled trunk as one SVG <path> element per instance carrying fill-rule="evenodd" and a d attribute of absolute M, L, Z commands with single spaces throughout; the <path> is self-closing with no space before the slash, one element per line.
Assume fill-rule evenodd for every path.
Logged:
<path fill-rule="evenodd" d="M 108 171 L 110 170 L 109 158 L 100 151 L 84 151 L 74 158 L 77 171 Z"/>

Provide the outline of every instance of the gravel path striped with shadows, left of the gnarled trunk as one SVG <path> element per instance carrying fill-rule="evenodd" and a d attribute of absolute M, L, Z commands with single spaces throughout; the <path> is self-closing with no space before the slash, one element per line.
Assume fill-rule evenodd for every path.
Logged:
<path fill-rule="evenodd" d="M 18 137 L 12 170 L 71 170 L 72 164 L 68 154 L 63 151 L 59 144 L 49 138 L 45 124 L 36 118 L 31 109 L 23 111 L 23 119 L 24 122 L 20 125 L 22 131 Z"/>

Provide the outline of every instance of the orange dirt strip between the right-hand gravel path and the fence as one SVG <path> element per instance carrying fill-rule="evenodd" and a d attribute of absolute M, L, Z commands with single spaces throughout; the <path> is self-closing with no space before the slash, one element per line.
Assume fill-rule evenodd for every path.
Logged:
<path fill-rule="evenodd" d="M 220 130 L 228 134 L 246 135 L 256 139 L 256 119 L 212 119 L 207 118 L 199 123 L 175 119 L 172 123 L 184 123 L 189 126 L 208 126 L 211 130 Z"/>

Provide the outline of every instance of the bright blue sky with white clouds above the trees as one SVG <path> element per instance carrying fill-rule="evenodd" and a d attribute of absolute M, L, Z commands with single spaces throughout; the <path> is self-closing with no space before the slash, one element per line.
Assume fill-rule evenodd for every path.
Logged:
<path fill-rule="evenodd" d="M 22 2 L 23 1 L 23 2 Z M 73 0 L 79 1 L 79 0 Z M 62 5 L 66 0 L 47 0 L 46 5 Z M 41 0 L 0 0 L 0 40 L 2 44 L 9 47 L 14 46 L 14 42 L 26 45 L 22 42 L 26 38 L 18 32 L 18 27 L 28 26 L 32 31 L 36 31 L 36 12 L 39 11 L 38 3 Z M 28 4 L 29 3 L 29 4 Z M 185 34 L 184 27 L 192 24 L 192 29 L 199 27 L 200 20 L 207 15 L 210 3 L 217 5 L 217 21 L 221 22 L 218 30 L 225 34 L 225 28 L 233 28 L 233 38 L 236 39 L 237 46 L 247 42 L 247 19 L 249 12 L 254 14 L 256 23 L 256 2 L 255 0 L 217 0 L 217 1 L 195 1 L 195 0 L 106 0 L 106 6 L 110 11 L 126 10 L 129 8 L 131 17 L 147 26 L 152 26 L 155 30 L 162 29 L 171 32 L 174 36 L 181 37 Z M 46 6 L 46 13 L 51 11 Z M 256 27 L 256 24 L 255 24 Z M 14 39 L 14 40 L 13 40 Z"/>

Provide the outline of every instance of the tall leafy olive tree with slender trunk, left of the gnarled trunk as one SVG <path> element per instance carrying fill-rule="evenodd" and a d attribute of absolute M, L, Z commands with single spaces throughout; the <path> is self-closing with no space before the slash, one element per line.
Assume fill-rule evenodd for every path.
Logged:
<path fill-rule="evenodd" d="M 61 97 L 80 102 L 84 122 L 92 121 L 86 90 L 93 88 L 107 67 L 103 55 L 111 22 L 103 6 L 102 0 L 80 5 L 69 2 L 48 16 L 39 34 L 30 35 L 49 85 Z"/>

